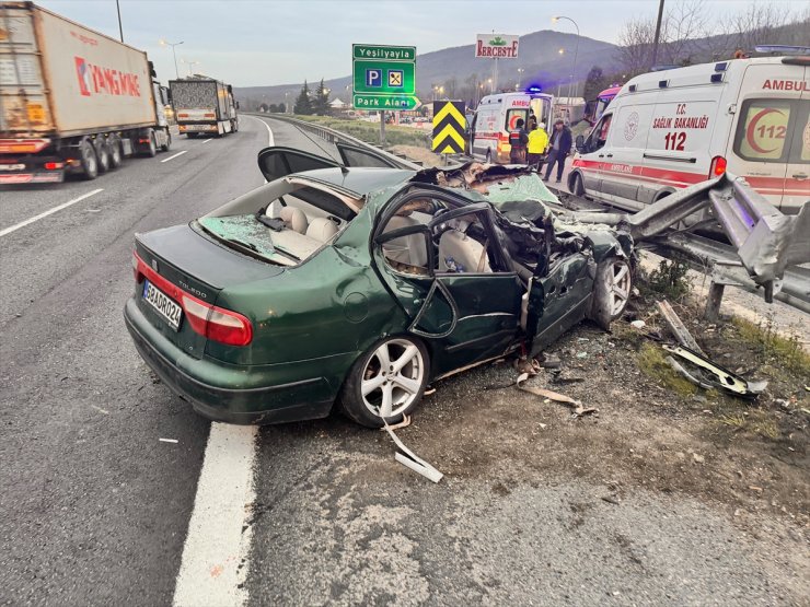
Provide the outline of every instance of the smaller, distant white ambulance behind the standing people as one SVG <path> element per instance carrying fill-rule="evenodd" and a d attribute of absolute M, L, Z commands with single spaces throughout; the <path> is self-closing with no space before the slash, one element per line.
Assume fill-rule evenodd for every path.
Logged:
<path fill-rule="evenodd" d="M 508 163 L 509 133 L 518 129 L 518 119 L 523 119 L 523 128 L 528 130 L 529 116 L 534 115 L 548 130 L 553 100 L 552 95 L 532 89 L 482 98 L 470 128 L 472 155 L 486 162 Z"/>

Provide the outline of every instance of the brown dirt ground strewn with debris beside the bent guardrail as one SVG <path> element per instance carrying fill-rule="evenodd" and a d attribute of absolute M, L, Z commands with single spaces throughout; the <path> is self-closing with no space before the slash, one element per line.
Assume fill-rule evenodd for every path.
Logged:
<path fill-rule="evenodd" d="M 761 328 L 730 318 L 706 324 L 698 302 L 675 305 L 709 358 L 770 382 L 755 400 L 703 390 L 661 362 L 649 335 L 672 339 L 653 299 L 636 297 L 611 334 L 575 328 L 547 351 L 559 369 L 530 381 L 598 412 L 576 418 L 567 405 L 517 389 L 505 361 L 437 383 L 401 436 L 449 476 L 489 479 L 496 494 L 586 480 L 603 486 L 602 499 L 616 507 L 638 489 L 695 498 L 775 542 L 786 575 L 810 579 L 807 353 L 790 342 L 765 347 Z M 646 326 L 636 329 L 633 319 Z"/>

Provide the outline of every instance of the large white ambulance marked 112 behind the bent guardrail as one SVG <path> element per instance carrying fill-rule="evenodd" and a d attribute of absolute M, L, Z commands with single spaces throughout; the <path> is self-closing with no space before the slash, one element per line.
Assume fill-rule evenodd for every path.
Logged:
<path fill-rule="evenodd" d="M 796 213 L 810 200 L 809 115 L 807 56 L 646 73 L 577 138 L 568 187 L 638 210 L 729 171 Z"/>

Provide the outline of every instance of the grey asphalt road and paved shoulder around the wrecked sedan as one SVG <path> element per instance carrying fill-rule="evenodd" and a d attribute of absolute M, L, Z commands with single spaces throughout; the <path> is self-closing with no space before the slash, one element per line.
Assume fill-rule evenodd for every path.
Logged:
<path fill-rule="evenodd" d="M 325 147 L 268 122 L 278 145 Z M 236 135 L 181 139 L 170 153 L 129 160 L 95 182 L 0 189 L 2 230 L 103 188 L 0 237 L 0 604 L 176 600 L 181 561 L 190 560 L 189 520 L 204 507 L 195 495 L 204 458 L 207 467 L 212 457 L 211 424 L 153 382 L 130 343 L 121 307 L 132 290 L 132 235 L 186 222 L 261 185 L 255 156 L 267 138 L 258 118 L 245 117 Z M 445 382 L 428 401 L 432 412 L 401 431 L 403 440 L 485 408 L 486 373 Z M 617 507 L 601 499 L 604 486 L 520 480 L 506 446 L 501 462 L 476 462 L 476 440 L 420 453 L 445 471 L 454 462 L 454 472 L 432 485 L 394 462 L 386 435 L 339 417 L 261 429 L 255 446 L 241 445 L 255 450 L 255 499 L 212 513 L 235 516 L 250 532 L 241 558 L 224 565 L 246 571 L 240 600 L 796 600 L 767 567 L 773 556 L 727 513 L 644 491 Z"/>

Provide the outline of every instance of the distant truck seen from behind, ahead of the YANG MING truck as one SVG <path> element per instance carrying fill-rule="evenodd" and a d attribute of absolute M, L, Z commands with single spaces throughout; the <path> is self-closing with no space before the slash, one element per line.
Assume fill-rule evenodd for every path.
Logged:
<path fill-rule="evenodd" d="M 200 133 L 222 137 L 239 130 L 236 108 L 230 84 L 194 75 L 169 81 L 174 117 L 180 133 L 195 138 Z"/>

